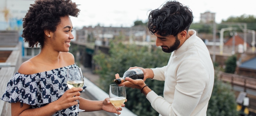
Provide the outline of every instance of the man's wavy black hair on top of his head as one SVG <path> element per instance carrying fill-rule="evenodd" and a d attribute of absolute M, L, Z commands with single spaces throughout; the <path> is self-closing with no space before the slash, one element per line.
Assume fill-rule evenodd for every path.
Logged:
<path fill-rule="evenodd" d="M 189 30 L 193 22 L 192 11 L 177 1 L 167 1 L 161 9 L 152 10 L 148 16 L 148 29 L 151 34 L 176 36 L 183 30 Z"/>

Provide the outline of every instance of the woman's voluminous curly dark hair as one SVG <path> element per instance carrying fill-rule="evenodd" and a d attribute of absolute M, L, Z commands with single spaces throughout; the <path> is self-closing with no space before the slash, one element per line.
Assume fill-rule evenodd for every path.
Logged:
<path fill-rule="evenodd" d="M 80 10 L 71 0 L 36 0 L 31 4 L 29 10 L 23 18 L 23 33 L 25 42 L 29 47 L 39 44 L 44 46 L 44 30 L 56 31 L 61 23 L 61 17 L 77 17 Z"/>

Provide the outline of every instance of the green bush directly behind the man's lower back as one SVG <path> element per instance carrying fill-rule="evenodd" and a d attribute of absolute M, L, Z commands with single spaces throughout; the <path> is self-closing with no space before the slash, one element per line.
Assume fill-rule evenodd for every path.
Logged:
<path fill-rule="evenodd" d="M 236 105 L 231 85 L 221 82 L 215 76 L 207 116 L 238 116 Z"/>

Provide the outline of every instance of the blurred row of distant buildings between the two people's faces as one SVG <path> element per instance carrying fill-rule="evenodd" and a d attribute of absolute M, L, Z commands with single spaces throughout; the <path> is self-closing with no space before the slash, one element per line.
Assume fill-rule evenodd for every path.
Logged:
<path fill-rule="evenodd" d="M 133 27 L 102 27 L 100 25 L 83 27 L 76 30 L 78 42 L 95 42 L 96 45 L 108 46 L 109 41 L 116 39 L 123 42 L 150 42 L 155 41 L 155 36 L 149 33 L 146 26 Z"/>

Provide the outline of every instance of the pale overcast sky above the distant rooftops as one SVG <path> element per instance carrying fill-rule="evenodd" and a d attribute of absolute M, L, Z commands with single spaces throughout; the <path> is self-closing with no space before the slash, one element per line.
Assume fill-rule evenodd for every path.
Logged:
<path fill-rule="evenodd" d="M 166 0 L 72 0 L 80 4 L 78 18 L 71 17 L 73 27 L 83 26 L 131 27 L 134 21 L 147 21 L 149 10 L 160 7 Z M 190 7 L 194 23 L 200 21 L 200 13 L 215 13 L 216 23 L 230 16 L 254 15 L 255 0 L 178 0 Z"/>

